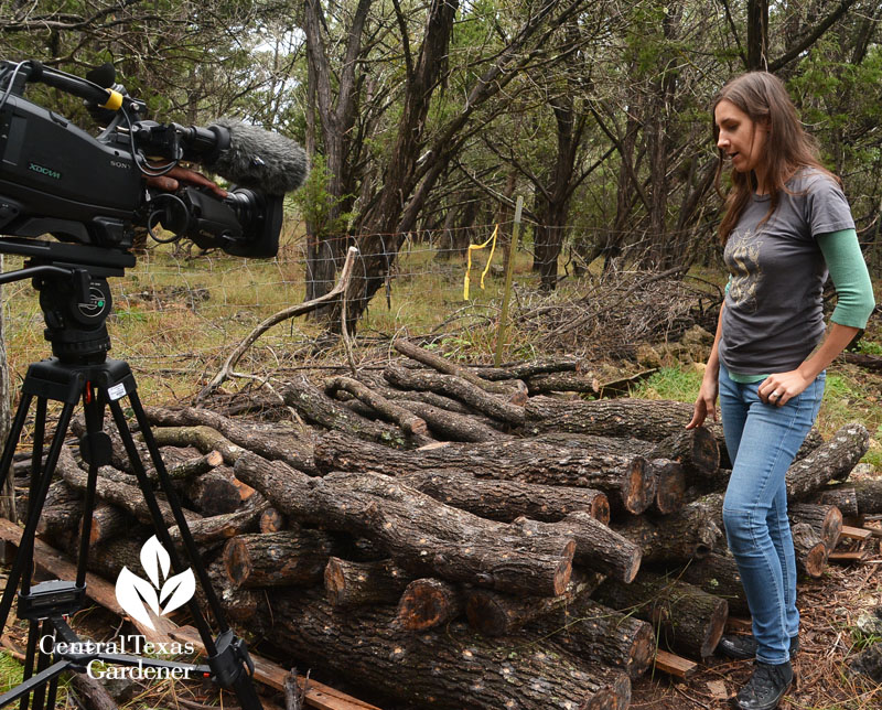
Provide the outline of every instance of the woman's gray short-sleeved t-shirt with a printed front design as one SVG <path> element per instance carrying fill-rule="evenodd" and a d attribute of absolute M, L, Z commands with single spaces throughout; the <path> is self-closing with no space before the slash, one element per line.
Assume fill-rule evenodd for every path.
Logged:
<path fill-rule="evenodd" d="M 839 185 L 803 170 L 787 182 L 766 222 L 770 196 L 754 195 L 729 235 L 731 275 L 720 359 L 740 375 L 789 372 L 824 335 L 821 290 L 827 266 L 815 237 L 854 228 Z"/>

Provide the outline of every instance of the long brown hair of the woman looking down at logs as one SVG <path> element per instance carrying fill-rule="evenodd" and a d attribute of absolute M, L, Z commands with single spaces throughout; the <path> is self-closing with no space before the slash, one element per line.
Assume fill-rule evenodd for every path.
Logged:
<path fill-rule="evenodd" d="M 765 154 L 761 158 L 766 168 L 765 187 L 770 194 L 768 212 L 763 222 L 772 216 L 778 206 L 781 191 L 787 192 L 785 183 L 793 178 L 800 168 L 815 168 L 836 180 L 841 186 L 841 181 L 821 165 L 818 159 L 818 148 L 815 139 L 803 130 L 796 107 L 793 105 L 787 89 L 776 76 L 768 72 L 749 72 L 735 77 L 723 86 L 713 99 L 711 107 L 711 125 L 713 126 L 713 142 L 720 137 L 720 128 L 716 121 L 716 110 L 720 101 L 727 100 L 744 111 L 751 120 L 766 126 L 770 129 L 770 140 L 766 141 Z M 719 163 L 714 185 L 717 192 L 723 196 L 720 187 L 720 175 L 723 171 L 725 153 L 718 149 Z M 732 189 L 725 195 L 725 214 L 720 224 L 720 238 L 725 244 L 729 234 L 738 224 L 741 213 L 751 200 L 756 189 L 756 176 L 750 173 L 740 173 L 732 169 Z M 762 223 L 761 223 L 762 224 Z"/>

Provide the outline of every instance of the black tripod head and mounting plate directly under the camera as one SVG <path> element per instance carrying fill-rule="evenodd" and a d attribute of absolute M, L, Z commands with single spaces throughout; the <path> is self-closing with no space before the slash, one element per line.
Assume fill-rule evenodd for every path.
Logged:
<path fill-rule="evenodd" d="M 128 251 L 31 239 L 0 239 L 0 254 L 30 257 L 23 269 L 0 275 L 0 284 L 32 279 L 52 354 L 71 365 L 105 362 L 106 321 L 112 310 L 108 277 L 135 266 Z"/>

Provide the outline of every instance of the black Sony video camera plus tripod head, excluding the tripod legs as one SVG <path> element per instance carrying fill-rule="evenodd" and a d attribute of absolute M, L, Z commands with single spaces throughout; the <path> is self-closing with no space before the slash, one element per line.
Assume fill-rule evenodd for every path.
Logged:
<path fill-rule="evenodd" d="M 138 228 L 158 241 L 186 237 L 204 249 L 273 257 L 283 195 L 306 175 L 295 142 L 241 121 L 201 128 L 142 119 L 144 104 L 114 85 L 115 74 L 111 65 L 80 78 L 34 61 L 0 62 L 0 254 L 29 257 L 25 268 L 0 273 L 0 283 L 32 280 L 46 340 L 68 364 L 104 362 L 110 349 L 107 279 L 135 266 Z M 24 89 L 35 82 L 84 99 L 106 128 L 93 137 L 29 101 Z M 163 191 L 150 180 L 180 161 L 234 186 L 220 198 L 186 184 Z M 170 238 L 157 234 L 160 224 Z M 35 238 L 45 234 L 71 244 Z"/>

